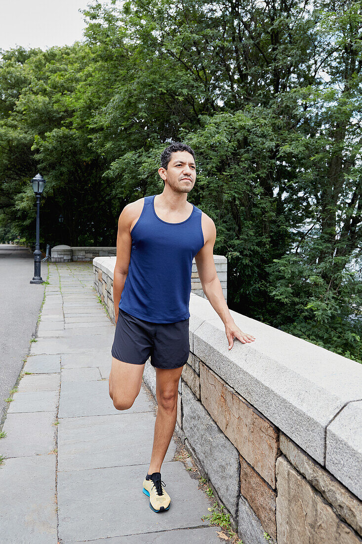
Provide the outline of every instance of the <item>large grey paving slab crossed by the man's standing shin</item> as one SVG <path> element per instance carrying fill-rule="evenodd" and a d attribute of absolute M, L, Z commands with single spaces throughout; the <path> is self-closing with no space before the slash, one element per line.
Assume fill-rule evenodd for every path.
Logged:
<path fill-rule="evenodd" d="M 140 465 L 151 459 L 152 412 L 64 418 L 58 426 L 58 471 Z M 165 461 L 171 461 L 171 440 Z"/>

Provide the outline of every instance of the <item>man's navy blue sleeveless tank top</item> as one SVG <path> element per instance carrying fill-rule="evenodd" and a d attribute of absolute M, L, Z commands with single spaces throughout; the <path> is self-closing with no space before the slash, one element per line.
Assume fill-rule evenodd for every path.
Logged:
<path fill-rule="evenodd" d="M 190 317 L 192 259 L 204 245 L 201 209 L 168 223 L 156 215 L 154 197 L 146 196 L 132 228 L 128 275 L 119 307 L 153 323 L 175 323 Z"/>

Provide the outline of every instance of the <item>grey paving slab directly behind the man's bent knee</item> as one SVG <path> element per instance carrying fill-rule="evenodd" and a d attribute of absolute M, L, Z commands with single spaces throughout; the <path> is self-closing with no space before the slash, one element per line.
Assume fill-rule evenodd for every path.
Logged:
<path fill-rule="evenodd" d="M 151 412 L 152 402 L 141 389 L 128 413 Z M 107 416 L 120 413 L 109 396 L 107 380 L 86 381 L 79 387 L 77 382 L 61 384 L 58 417 Z"/>

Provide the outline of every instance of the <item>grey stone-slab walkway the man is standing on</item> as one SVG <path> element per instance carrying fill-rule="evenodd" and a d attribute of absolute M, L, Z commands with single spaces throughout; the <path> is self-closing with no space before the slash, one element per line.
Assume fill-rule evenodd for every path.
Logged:
<path fill-rule="evenodd" d="M 113 406 L 114 325 L 92 288 L 91 264 L 50 263 L 49 274 L 38 339 L 2 429 L 0 542 L 220 542 L 201 520 L 210 504 L 198 480 L 172 460 L 174 439 L 161 468 L 171 508 L 149 508 L 142 481 L 154 401 L 142 385 L 130 410 Z"/>

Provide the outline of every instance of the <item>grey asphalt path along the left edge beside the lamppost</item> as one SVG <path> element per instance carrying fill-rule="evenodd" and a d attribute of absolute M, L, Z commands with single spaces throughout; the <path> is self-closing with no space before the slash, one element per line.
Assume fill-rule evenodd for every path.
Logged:
<path fill-rule="evenodd" d="M 47 279 L 48 265 L 41 263 L 41 277 Z M 30 339 L 35 336 L 45 285 L 29 283 L 34 276 L 34 254 L 24 246 L 0 244 L 0 428 L 9 397 Z"/>

